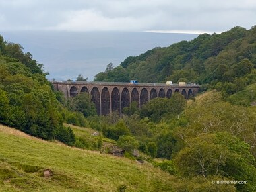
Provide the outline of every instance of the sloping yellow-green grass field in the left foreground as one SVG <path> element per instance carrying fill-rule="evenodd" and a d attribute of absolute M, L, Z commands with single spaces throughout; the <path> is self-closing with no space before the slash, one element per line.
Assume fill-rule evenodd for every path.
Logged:
<path fill-rule="evenodd" d="M 150 164 L 46 142 L 0 125 L 0 191 L 173 191 L 175 182 Z"/>

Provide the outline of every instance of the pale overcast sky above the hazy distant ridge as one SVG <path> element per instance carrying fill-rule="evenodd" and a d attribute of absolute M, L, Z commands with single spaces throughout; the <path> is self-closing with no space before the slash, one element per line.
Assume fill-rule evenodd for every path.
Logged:
<path fill-rule="evenodd" d="M 211 33 L 255 18 L 255 0 L 0 0 L 1 31 Z"/>

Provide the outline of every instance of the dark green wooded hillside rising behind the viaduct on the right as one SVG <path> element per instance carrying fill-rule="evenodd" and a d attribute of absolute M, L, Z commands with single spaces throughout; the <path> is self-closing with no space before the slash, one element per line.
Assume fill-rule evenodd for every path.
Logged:
<path fill-rule="evenodd" d="M 234 27 L 222 34 L 201 34 L 166 48 L 129 56 L 113 70 L 98 73 L 95 81 L 190 81 L 199 84 L 237 84 L 256 68 L 256 27 Z M 248 83 L 248 82 L 246 82 Z"/>

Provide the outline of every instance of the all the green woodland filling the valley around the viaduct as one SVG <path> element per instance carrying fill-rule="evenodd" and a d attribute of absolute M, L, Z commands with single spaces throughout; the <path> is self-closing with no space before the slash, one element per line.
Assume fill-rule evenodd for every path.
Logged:
<path fill-rule="evenodd" d="M 45 77 L 42 64 L 22 46 L 0 39 L 1 124 L 90 150 L 100 150 L 102 137 L 109 138 L 125 157 L 179 177 L 177 191 L 256 191 L 256 27 L 202 34 L 131 56 L 116 68 L 108 64 L 95 81 L 201 85 L 197 97 L 185 100 L 174 93 L 142 109 L 131 103 L 122 117 L 98 117 L 86 93 L 65 100 Z M 63 122 L 93 128 L 100 137 L 77 137 Z M 134 150 L 141 155 L 134 157 Z M 218 180 L 247 184 L 212 184 Z"/>

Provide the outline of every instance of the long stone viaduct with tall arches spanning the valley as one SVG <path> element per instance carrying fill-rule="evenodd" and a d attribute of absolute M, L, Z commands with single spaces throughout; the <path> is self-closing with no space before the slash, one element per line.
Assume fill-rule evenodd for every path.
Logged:
<path fill-rule="evenodd" d="M 199 91 L 199 85 L 166 85 L 164 83 L 115 83 L 115 82 L 85 82 L 64 81 L 53 82 L 55 91 L 63 92 L 70 99 L 80 93 L 88 93 L 90 100 L 96 105 L 98 115 L 107 115 L 113 111 L 121 111 L 136 101 L 138 107 L 156 97 L 172 97 L 179 92 L 185 99 L 194 96 Z"/>

